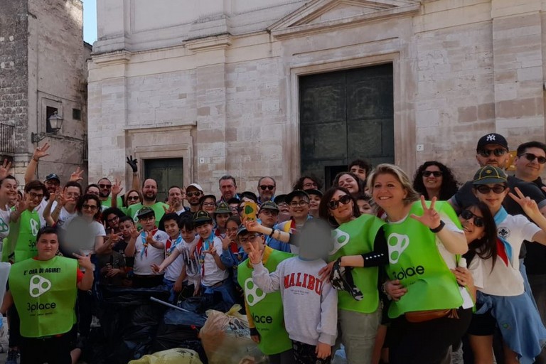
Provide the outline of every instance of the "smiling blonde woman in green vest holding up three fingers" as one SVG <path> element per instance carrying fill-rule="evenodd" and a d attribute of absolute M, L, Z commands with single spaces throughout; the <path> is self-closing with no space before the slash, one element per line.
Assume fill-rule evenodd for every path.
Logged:
<path fill-rule="evenodd" d="M 390 363 L 443 363 L 471 319 L 450 270 L 468 250 L 461 224 L 448 203 L 419 201 L 400 167 L 380 164 L 368 188 L 386 215 L 387 275 L 407 289 L 388 311 Z"/>

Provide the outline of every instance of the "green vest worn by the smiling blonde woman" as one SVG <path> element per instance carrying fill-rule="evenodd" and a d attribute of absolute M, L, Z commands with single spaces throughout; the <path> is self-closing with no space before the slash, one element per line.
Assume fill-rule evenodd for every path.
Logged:
<path fill-rule="evenodd" d="M 437 202 L 435 209 L 461 228 L 449 203 Z M 407 288 L 399 301 L 391 302 L 391 319 L 405 312 L 456 309 L 463 303 L 459 284 L 440 255 L 436 236 L 427 226 L 411 218 L 412 214 L 423 215 L 421 201 L 412 204 L 402 223 L 387 223 L 384 227 L 389 247 L 387 274 Z"/>

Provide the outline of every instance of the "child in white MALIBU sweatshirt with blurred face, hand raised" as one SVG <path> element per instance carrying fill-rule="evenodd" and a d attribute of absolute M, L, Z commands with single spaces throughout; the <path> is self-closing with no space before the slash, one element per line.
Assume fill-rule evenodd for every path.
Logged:
<path fill-rule="evenodd" d="M 281 290 L 296 363 L 330 363 L 337 336 L 338 296 L 330 282 L 321 282 L 319 270 L 326 266 L 323 257 L 333 247 L 331 230 L 323 221 L 309 220 L 298 239 L 299 256 L 280 262 L 271 274 L 262 264 L 257 243 L 252 246 L 248 253 L 254 266 L 252 280 L 265 293 Z"/>

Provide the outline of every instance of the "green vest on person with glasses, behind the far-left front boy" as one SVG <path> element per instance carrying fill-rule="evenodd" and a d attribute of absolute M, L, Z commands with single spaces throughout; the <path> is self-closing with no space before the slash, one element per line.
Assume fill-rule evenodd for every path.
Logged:
<path fill-rule="evenodd" d="M 36 257 L 36 235 L 40 230 L 40 215 L 36 211 L 24 210 L 18 222 L 18 236 L 15 243 L 15 262 Z"/>

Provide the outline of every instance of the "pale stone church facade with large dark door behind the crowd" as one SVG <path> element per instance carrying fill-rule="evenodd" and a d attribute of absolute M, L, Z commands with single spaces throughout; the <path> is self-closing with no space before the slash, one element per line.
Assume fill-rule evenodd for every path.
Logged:
<path fill-rule="evenodd" d="M 267 175 L 289 191 L 355 156 L 410 173 L 436 159 L 464 181 L 481 135 L 545 140 L 545 7 L 98 0 L 90 180 L 130 176 L 133 155 L 143 176 L 216 194 L 225 173 L 239 191 Z"/>

